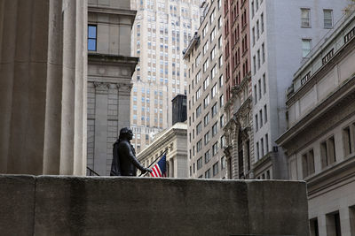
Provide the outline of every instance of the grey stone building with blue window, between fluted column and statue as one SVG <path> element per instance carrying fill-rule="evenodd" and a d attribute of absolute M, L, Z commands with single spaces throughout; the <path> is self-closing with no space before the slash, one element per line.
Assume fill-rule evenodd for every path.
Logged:
<path fill-rule="evenodd" d="M 90 0 L 88 6 L 88 167 L 109 175 L 114 141 L 130 126 L 130 0 Z"/>

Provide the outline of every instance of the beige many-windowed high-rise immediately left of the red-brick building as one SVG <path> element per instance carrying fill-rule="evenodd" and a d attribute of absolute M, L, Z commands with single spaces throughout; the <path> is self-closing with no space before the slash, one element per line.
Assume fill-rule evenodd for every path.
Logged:
<path fill-rule="evenodd" d="M 189 177 L 225 179 L 222 0 L 201 5 L 201 26 L 185 49 Z"/>

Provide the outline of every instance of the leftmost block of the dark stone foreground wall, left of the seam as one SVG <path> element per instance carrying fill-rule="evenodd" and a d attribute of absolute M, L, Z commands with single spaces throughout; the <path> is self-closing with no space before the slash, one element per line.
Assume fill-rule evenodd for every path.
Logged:
<path fill-rule="evenodd" d="M 35 182 L 30 175 L 0 175 L 1 235 L 33 234 Z"/>

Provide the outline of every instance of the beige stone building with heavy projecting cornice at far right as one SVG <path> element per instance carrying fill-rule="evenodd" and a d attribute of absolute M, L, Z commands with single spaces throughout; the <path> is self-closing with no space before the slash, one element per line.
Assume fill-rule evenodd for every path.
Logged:
<path fill-rule="evenodd" d="M 277 140 L 308 188 L 311 235 L 355 235 L 355 11 L 313 49 L 288 89 Z"/>

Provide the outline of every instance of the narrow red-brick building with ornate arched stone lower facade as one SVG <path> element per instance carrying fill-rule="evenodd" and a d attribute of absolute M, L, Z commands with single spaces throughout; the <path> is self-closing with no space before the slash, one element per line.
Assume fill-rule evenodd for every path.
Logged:
<path fill-rule="evenodd" d="M 225 1 L 225 157 L 228 179 L 253 178 L 248 0 Z"/>

